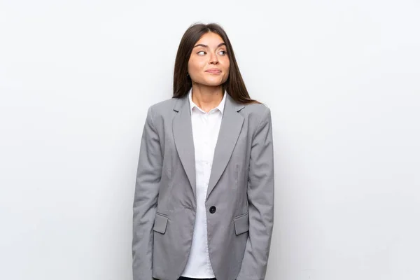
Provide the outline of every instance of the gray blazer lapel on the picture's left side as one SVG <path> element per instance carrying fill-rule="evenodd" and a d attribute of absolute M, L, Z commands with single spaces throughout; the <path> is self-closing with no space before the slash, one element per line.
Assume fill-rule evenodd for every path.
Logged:
<path fill-rule="evenodd" d="M 195 197 L 195 150 L 188 94 L 176 101 L 174 111 L 178 112 L 172 123 L 176 151 Z"/>

